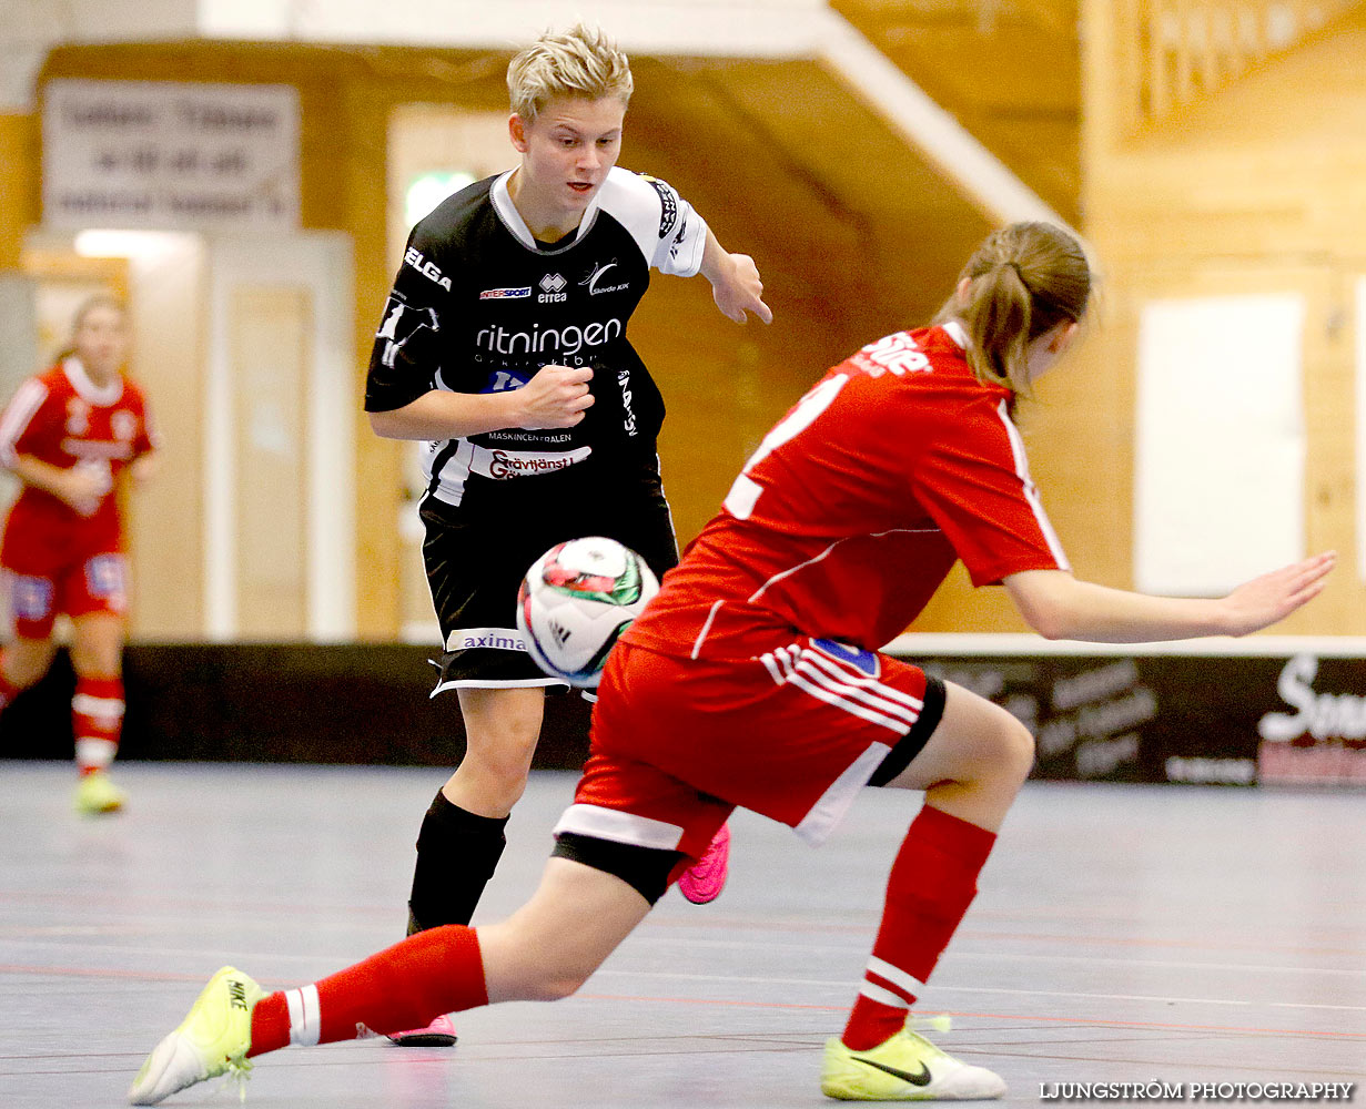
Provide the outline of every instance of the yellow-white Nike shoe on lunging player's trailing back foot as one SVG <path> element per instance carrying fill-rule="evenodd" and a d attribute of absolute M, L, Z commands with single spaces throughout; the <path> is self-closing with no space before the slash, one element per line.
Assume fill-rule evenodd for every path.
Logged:
<path fill-rule="evenodd" d="M 242 971 L 224 967 L 190 1007 L 173 1033 L 142 1064 L 128 1087 L 128 1105 L 156 1105 L 176 1090 L 231 1071 L 246 1082 L 251 1063 L 251 1011 L 265 997 Z"/>

